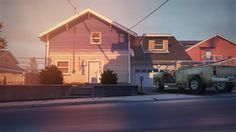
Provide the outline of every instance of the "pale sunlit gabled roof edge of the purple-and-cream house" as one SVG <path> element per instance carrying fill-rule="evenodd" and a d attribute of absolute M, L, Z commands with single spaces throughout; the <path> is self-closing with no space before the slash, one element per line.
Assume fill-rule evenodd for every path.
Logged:
<path fill-rule="evenodd" d="M 117 28 L 119 28 L 119 29 L 121 29 L 121 30 L 123 30 L 123 31 L 125 31 L 125 32 L 127 32 L 127 33 L 129 33 L 129 34 L 131 34 L 131 35 L 133 35 L 133 36 L 137 36 L 137 34 L 136 34 L 135 32 L 133 32 L 133 31 L 131 31 L 130 29 L 128 29 L 128 28 L 126 28 L 126 27 L 120 25 L 119 23 L 117 23 L 117 22 L 111 20 L 110 18 L 107 18 L 107 17 L 105 17 L 105 16 L 103 16 L 103 15 L 101 15 L 101 14 L 95 12 L 95 11 L 92 10 L 92 9 L 87 8 L 87 9 L 85 9 L 85 10 L 79 12 L 78 14 L 75 14 L 74 16 L 72 16 L 72 17 L 70 17 L 70 18 L 68 18 L 68 19 L 66 19 L 66 20 L 64 20 L 64 21 L 62 21 L 61 23 L 59 23 L 59 24 L 53 26 L 52 28 L 49 28 L 48 30 L 42 32 L 41 34 L 39 34 L 39 38 L 42 38 L 43 36 L 49 34 L 50 32 L 56 30 L 56 29 L 59 28 L 59 27 L 65 26 L 67 23 L 69 23 L 69 22 L 71 22 L 71 21 L 73 21 L 73 20 L 79 18 L 80 16 L 82 16 L 82 15 L 88 13 L 88 12 L 89 12 L 89 13 L 92 13 L 93 15 L 95 15 L 95 16 L 101 18 L 102 20 L 104 20 L 104 21 L 106 21 L 106 22 L 112 24 L 113 26 L 116 26 Z"/>

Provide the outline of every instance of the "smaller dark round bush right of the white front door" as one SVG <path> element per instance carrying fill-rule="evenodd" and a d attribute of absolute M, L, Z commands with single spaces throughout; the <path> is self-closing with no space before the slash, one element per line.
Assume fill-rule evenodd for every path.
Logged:
<path fill-rule="evenodd" d="M 118 77 L 113 70 L 108 69 L 101 74 L 100 80 L 102 84 L 117 84 Z"/>

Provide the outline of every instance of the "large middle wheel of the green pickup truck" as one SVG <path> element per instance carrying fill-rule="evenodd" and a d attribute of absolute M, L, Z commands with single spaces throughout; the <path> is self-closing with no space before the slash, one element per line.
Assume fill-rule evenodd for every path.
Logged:
<path fill-rule="evenodd" d="M 192 94 L 201 94 L 205 90 L 205 86 L 202 84 L 199 77 L 192 77 L 189 80 L 189 88 Z"/>

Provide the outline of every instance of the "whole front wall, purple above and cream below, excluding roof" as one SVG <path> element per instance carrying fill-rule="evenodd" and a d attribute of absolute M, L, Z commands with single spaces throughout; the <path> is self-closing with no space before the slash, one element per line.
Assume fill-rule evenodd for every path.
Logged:
<path fill-rule="evenodd" d="M 90 44 L 91 32 L 101 32 L 101 44 Z M 88 83 L 89 61 L 101 61 L 102 70 L 114 70 L 119 83 L 129 81 L 128 34 L 92 14 L 90 18 L 85 14 L 70 22 L 68 30 L 61 27 L 50 34 L 48 56 L 48 64 L 70 61 L 65 83 Z"/>

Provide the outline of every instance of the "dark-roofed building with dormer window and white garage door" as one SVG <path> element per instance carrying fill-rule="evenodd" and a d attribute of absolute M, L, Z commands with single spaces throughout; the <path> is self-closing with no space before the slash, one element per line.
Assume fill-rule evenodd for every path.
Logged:
<path fill-rule="evenodd" d="M 175 70 L 176 63 L 190 61 L 184 47 L 169 34 L 146 34 L 137 37 L 131 46 L 132 83 L 143 87 L 153 87 L 153 75 L 160 70 Z"/>

